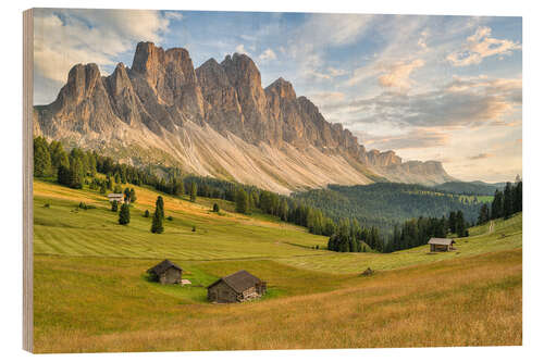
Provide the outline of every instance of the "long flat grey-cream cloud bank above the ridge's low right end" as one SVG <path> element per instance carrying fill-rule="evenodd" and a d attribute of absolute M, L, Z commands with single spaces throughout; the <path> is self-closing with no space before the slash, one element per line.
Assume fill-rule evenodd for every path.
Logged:
<path fill-rule="evenodd" d="M 396 126 L 474 126 L 504 122 L 521 105 L 521 79 L 455 78 L 436 90 L 419 93 L 384 91 L 375 97 L 329 105 L 364 116 L 358 123 Z"/>

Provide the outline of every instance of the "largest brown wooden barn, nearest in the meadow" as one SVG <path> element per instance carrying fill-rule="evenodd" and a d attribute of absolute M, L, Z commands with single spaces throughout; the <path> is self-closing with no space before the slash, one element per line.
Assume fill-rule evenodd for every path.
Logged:
<path fill-rule="evenodd" d="M 222 277 L 208 287 L 208 300 L 217 303 L 235 303 L 260 298 L 267 292 L 267 282 L 239 271 Z"/>

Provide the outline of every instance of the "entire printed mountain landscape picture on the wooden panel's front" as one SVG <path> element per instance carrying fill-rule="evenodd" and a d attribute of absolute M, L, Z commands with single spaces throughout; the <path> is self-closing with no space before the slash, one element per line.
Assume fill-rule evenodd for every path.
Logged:
<path fill-rule="evenodd" d="M 522 344 L 521 17 L 32 25 L 34 352 Z"/>

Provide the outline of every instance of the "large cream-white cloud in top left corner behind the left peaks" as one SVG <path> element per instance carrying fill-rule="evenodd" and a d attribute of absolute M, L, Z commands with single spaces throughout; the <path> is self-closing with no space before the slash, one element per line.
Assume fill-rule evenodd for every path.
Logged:
<path fill-rule="evenodd" d="M 34 70 L 44 83 L 66 82 L 77 63 L 113 65 L 137 41 L 161 41 L 169 20 L 158 11 L 38 9 L 35 12 Z M 36 84 L 40 99 L 44 89 Z"/>

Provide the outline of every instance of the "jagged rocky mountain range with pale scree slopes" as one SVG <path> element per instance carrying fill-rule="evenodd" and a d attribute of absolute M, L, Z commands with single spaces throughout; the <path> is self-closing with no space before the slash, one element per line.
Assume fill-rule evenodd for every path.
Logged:
<path fill-rule="evenodd" d="M 121 162 L 180 166 L 281 194 L 454 180 L 440 162 L 367 151 L 283 78 L 263 89 L 247 55 L 195 70 L 187 50 L 152 42 L 138 43 L 132 67 L 119 63 L 109 76 L 94 63 L 72 67 L 54 102 L 35 107 L 34 132 Z"/>

